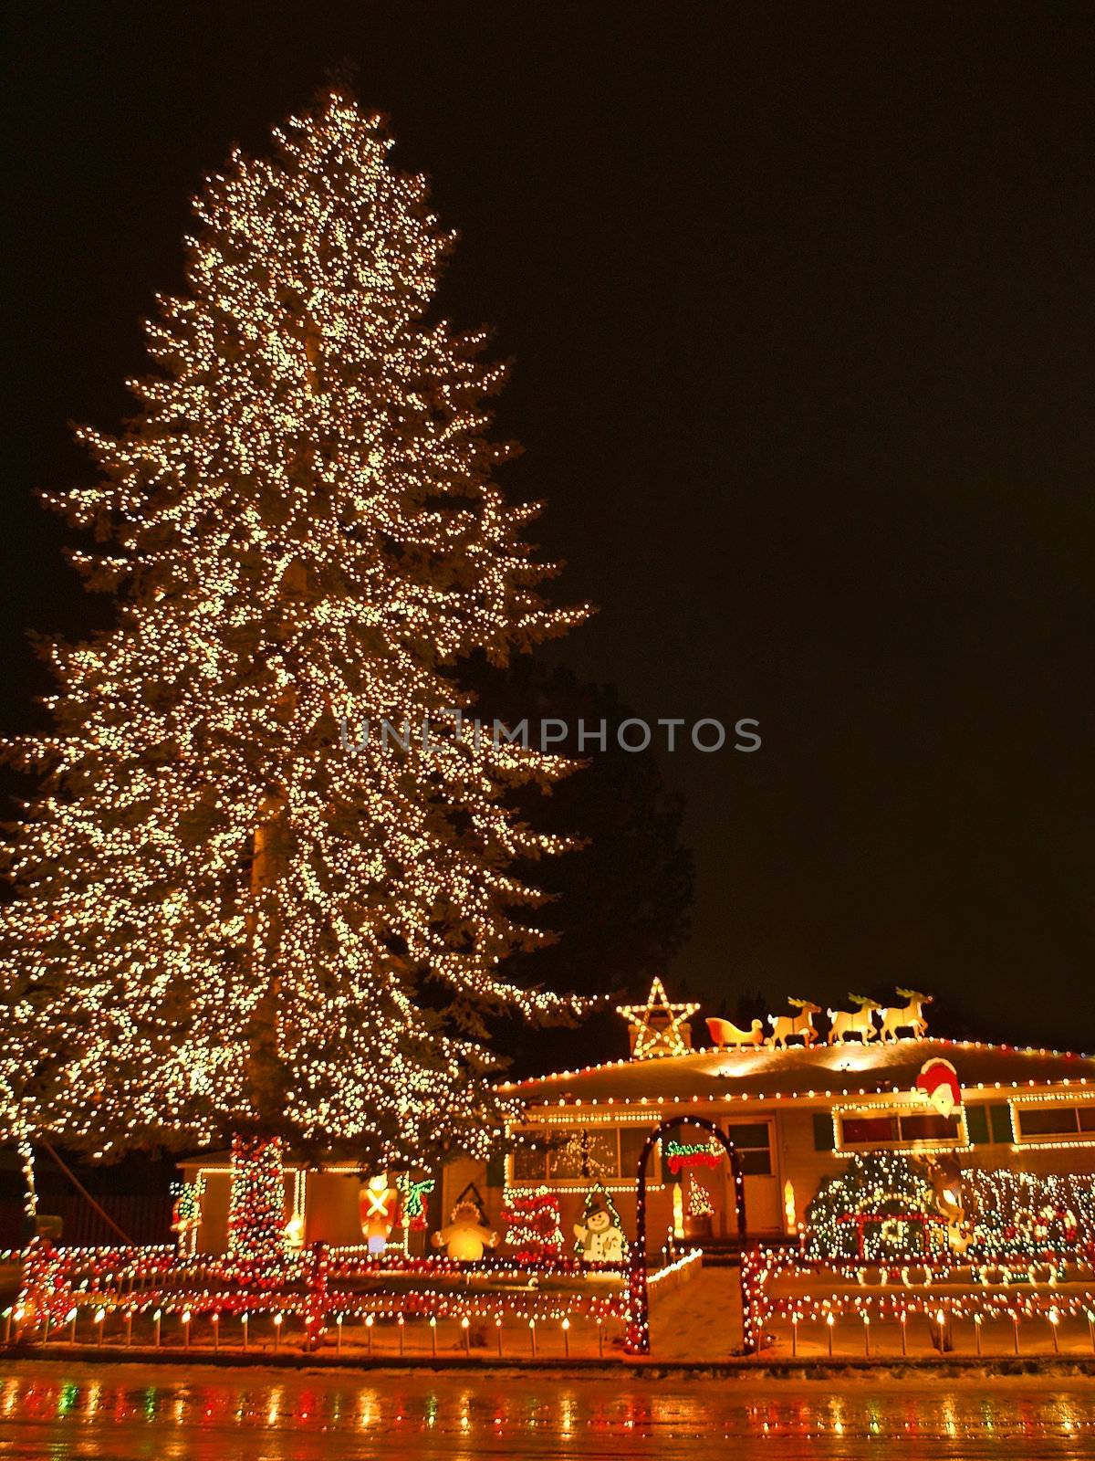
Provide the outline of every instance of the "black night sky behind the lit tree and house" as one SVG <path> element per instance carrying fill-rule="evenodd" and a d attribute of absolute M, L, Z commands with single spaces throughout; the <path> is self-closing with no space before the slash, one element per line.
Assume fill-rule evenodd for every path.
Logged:
<path fill-rule="evenodd" d="M 356 69 L 512 356 L 552 649 L 664 757 L 710 998 L 911 983 L 1095 1046 L 1089 4 L 187 4 L 9 13 L 4 729 L 26 631 L 108 605 L 32 498 L 86 481 L 188 199 Z M 942 1033 L 948 1033 L 943 1030 Z M 622 1045 L 622 1036 L 620 1036 Z M 615 1053 L 622 1053 L 622 1049 Z"/>

